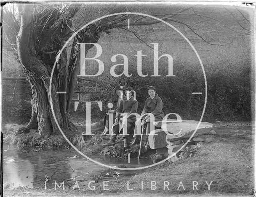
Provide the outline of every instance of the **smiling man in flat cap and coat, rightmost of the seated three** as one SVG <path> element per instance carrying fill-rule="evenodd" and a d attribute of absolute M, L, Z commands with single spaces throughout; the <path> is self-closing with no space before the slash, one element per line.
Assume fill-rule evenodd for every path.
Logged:
<path fill-rule="evenodd" d="M 142 133 L 143 134 L 146 133 L 146 145 L 145 145 L 146 151 L 150 148 L 148 134 L 150 133 L 150 131 L 154 130 L 154 127 L 153 128 L 150 127 L 150 122 L 151 121 L 160 121 L 164 118 L 164 112 L 162 111 L 163 101 L 158 96 L 158 94 L 156 94 L 156 88 L 154 86 L 148 86 L 148 95 L 149 95 L 149 97 L 146 99 L 143 111 L 140 115 L 141 120 L 142 120 L 141 126 L 142 126 L 142 128 L 144 128 L 144 129 L 142 129 Z M 150 119 L 150 115 L 148 115 L 149 113 L 154 115 L 154 120 Z M 131 145 L 140 143 L 140 135 L 138 135 L 136 132 L 136 129 L 138 127 L 140 127 L 140 125 L 138 125 L 138 124 L 140 124 L 140 121 L 136 121 L 135 132 L 134 132 L 135 133 L 134 141 L 131 143 Z M 145 132 L 145 129 L 146 129 L 146 132 Z"/>

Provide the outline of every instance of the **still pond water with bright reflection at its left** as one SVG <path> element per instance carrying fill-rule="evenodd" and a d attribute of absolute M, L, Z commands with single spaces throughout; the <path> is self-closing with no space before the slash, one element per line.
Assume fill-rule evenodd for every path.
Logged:
<path fill-rule="evenodd" d="M 4 149 L 5 150 L 5 149 Z M 76 156 L 77 155 L 77 156 Z M 152 164 L 151 159 L 138 161 L 136 158 L 118 159 L 113 157 L 90 156 L 90 158 L 107 165 L 126 167 L 142 167 Z M 95 164 L 92 161 L 70 150 L 8 150 L 3 153 L 3 181 L 10 183 L 10 187 L 40 187 L 44 188 L 45 177 L 47 185 L 54 187 L 54 181 L 60 184 L 64 180 L 87 181 L 93 174 L 108 168 Z M 138 173 L 138 171 L 119 171 L 122 175 Z M 66 183 L 65 183 L 66 184 Z M 47 186 L 47 187 L 48 187 Z"/>

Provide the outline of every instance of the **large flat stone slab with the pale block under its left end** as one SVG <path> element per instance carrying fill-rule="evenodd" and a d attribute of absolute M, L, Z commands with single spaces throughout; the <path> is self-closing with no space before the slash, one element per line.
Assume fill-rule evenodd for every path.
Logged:
<path fill-rule="evenodd" d="M 149 145 L 151 149 L 166 147 L 170 142 L 172 142 L 171 145 L 179 144 L 180 142 L 176 143 L 176 141 L 182 138 L 189 138 L 199 123 L 196 120 L 182 120 L 177 122 L 175 119 L 168 119 L 168 121 L 172 121 L 172 123 L 163 121 L 154 122 L 157 126 L 161 124 L 161 129 L 156 129 L 150 133 Z M 213 125 L 211 123 L 201 122 L 194 137 L 209 133 L 212 127 Z M 164 131 L 164 128 L 167 131 Z M 169 133 L 169 135 L 167 135 L 167 133 Z"/>

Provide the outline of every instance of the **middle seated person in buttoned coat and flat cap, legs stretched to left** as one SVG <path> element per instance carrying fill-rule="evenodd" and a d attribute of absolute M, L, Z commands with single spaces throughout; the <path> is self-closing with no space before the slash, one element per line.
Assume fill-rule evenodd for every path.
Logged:
<path fill-rule="evenodd" d="M 121 100 L 120 106 L 116 110 L 116 119 L 112 127 L 110 141 L 103 144 L 103 147 L 112 146 L 115 144 L 116 135 L 123 131 L 124 147 L 129 147 L 128 137 L 132 134 L 132 125 L 136 122 L 136 113 L 138 109 L 138 101 L 132 96 L 132 88 L 125 89 L 126 99 Z M 122 131 L 121 131 L 122 130 Z M 124 130 L 127 131 L 124 132 Z"/>

